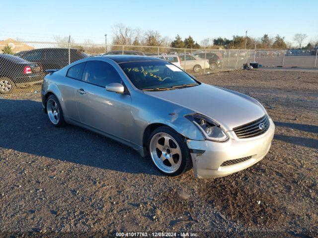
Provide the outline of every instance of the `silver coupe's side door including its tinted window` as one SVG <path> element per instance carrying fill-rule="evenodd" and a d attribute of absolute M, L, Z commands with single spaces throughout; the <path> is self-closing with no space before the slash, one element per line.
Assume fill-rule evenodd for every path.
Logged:
<path fill-rule="evenodd" d="M 101 60 L 86 61 L 76 91 L 77 108 L 82 124 L 124 139 L 133 124 L 131 98 L 128 92 L 106 91 L 105 85 L 114 82 L 123 84 L 114 66 Z"/>

